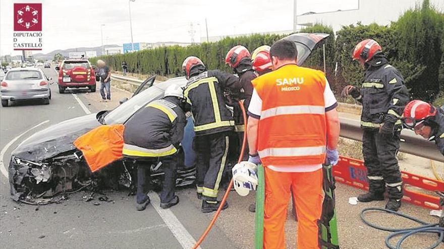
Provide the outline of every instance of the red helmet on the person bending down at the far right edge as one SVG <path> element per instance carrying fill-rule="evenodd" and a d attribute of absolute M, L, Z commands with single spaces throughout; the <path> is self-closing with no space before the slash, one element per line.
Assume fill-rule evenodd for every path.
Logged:
<path fill-rule="evenodd" d="M 436 108 L 429 103 L 420 100 L 410 101 L 404 109 L 403 124 L 412 129 L 421 124 L 429 117 L 436 115 Z"/>

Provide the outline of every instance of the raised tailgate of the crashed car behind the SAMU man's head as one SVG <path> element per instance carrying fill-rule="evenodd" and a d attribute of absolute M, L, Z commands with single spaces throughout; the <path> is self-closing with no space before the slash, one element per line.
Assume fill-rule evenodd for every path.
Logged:
<path fill-rule="evenodd" d="M 298 66 L 302 65 L 311 52 L 325 42 L 329 34 L 325 33 L 296 33 L 284 37 L 283 39 L 295 42 L 298 49 Z"/>

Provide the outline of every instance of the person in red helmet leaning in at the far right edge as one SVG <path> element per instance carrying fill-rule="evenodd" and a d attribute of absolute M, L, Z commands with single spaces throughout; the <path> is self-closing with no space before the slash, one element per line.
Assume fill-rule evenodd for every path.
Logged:
<path fill-rule="evenodd" d="M 409 102 L 404 109 L 404 127 L 429 141 L 435 141 L 444 155 L 444 109 L 420 100 Z"/>

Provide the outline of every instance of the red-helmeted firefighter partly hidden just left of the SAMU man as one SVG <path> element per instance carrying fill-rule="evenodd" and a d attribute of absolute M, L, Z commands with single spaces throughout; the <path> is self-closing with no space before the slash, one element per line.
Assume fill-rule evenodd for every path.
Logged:
<path fill-rule="evenodd" d="M 228 64 L 233 69 L 233 72 L 239 76 L 241 92 L 243 92 L 241 98 L 245 99 L 244 108 L 245 110 L 248 110 L 251 95 L 253 94 L 251 80 L 257 76 L 253 70 L 250 52 L 246 47 L 237 45 L 228 51 L 227 55 L 225 56 L 225 63 Z M 240 147 L 244 141 L 245 121 L 242 110 L 237 103 L 233 106 L 233 116 L 235 121 L 235 131 L 238 134 L 239 139 L 238 146 Z M 244 160 L 247 159 L 248 148 L 245 148 Z"/>

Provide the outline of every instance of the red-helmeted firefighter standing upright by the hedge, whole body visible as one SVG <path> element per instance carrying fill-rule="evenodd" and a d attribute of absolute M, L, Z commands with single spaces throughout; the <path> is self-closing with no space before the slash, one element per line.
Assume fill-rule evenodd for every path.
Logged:
<path fill-rule="evenodd" d="M 401 207 L 403 190 L 396 154 L 400 143 L 400 118 L 409 101 L 409 93 L 401 73 L 388 64 L 376 41 L 359 42 L 352 56 L 366 69 L 362 87 L 347 86 L 342 93 L 362 103 L 362 154 L 369 192 L 359 195 L 358 200 L 384 200 L 387 189 L 385 208 L 397 211 Z"/>

